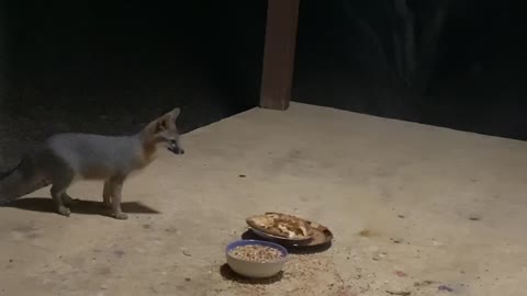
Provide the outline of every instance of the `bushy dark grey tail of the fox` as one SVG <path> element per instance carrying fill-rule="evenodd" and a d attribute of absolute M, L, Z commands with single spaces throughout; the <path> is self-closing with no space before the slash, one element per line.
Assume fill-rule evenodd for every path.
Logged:
<path fill-rule="evenodd" d="M 0 205 L 13 202 L 49 184 L 51 182 L 38 173 L 31 157 L 25 157 L 15 168 L 0 174 Z"/>

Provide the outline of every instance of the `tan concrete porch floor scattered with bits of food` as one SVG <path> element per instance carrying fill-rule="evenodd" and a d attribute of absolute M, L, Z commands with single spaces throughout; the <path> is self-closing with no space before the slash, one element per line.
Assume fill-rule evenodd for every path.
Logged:
<path fill-rule="evenodd" d="M 526 143 L 295 103 L 183 147 L 127 181 L 128 220 L 100 215 L 100 183 L 70 190 L 88 202 L 69 218 L 48 189 L 0 208 L 0 295 L 527 295 Z M 328 226 L 333 247 L 276 281 L 222 273 L 266 210 Z"/>

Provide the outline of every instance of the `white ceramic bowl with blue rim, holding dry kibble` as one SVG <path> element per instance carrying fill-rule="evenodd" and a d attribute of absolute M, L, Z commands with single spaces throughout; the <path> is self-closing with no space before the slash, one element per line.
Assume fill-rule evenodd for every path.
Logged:
<path fill-rule="evenodd" d="M 282 259 L 274 262 L 259 263 L 259 262 L 237 259 L 229 254 L 231 251 L 234 250 L 236 247 L 253 246 L 253 244 L 266 246 L 266 247 L 277 249 L 282 253 Z M 285 250 L 285 248 L 283 248 L 282 246 L 273 242 L 269 242 L 269 241 L 253 240 L 253 239 L 244 239 L 244 240 L 237 240 L 237 241 L 231 242 L 225 250 L 225 255 L 227 258 L 228 266 L 235 273 L 246 277 L 251 277 L 251 278 L 266 278 L 266 277 L 271 277 L 278 274 L 283 269 L 283 265 L 285 264 L 289 258 L 288 250 Z"/>

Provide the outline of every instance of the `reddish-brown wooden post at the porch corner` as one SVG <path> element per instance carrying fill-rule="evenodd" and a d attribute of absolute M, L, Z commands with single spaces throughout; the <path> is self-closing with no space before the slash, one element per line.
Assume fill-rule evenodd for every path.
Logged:
<path fill-rule="evenodd" d="M 291 101 L 300 0 L 268 0 L 260 106 L 287 110 Z"/>

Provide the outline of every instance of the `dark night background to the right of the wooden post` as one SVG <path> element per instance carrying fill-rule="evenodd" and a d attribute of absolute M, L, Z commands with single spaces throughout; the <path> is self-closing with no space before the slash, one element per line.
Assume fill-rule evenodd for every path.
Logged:
<path fill-rule="evenodd" d="M 435 60 L 422 60 L 425 69 L 417 71 L 414 84 L 407 86 L 393 73 L 396 67 L 392 34 L 402 25 L 394 13 L 395 1 L 334 0 L 321 5 L 321 1 L 304 0 L 294 98 L 525 140 L 527 27 L 520 2 L 403 1 L 416 19 L 417 44 L 433 35 L 430 26 L 438 11 L 446 12 L 433 55 Z M 345 9 L 345 2 L 351 12 Z M 384 57 L 377 54 L 378 46 L 365 26 L 379 36 Z M 382 58 L 388 59 L 388 67 Z M 416 86 L 426 76 L 427 67 L 428 83 Z"/>

